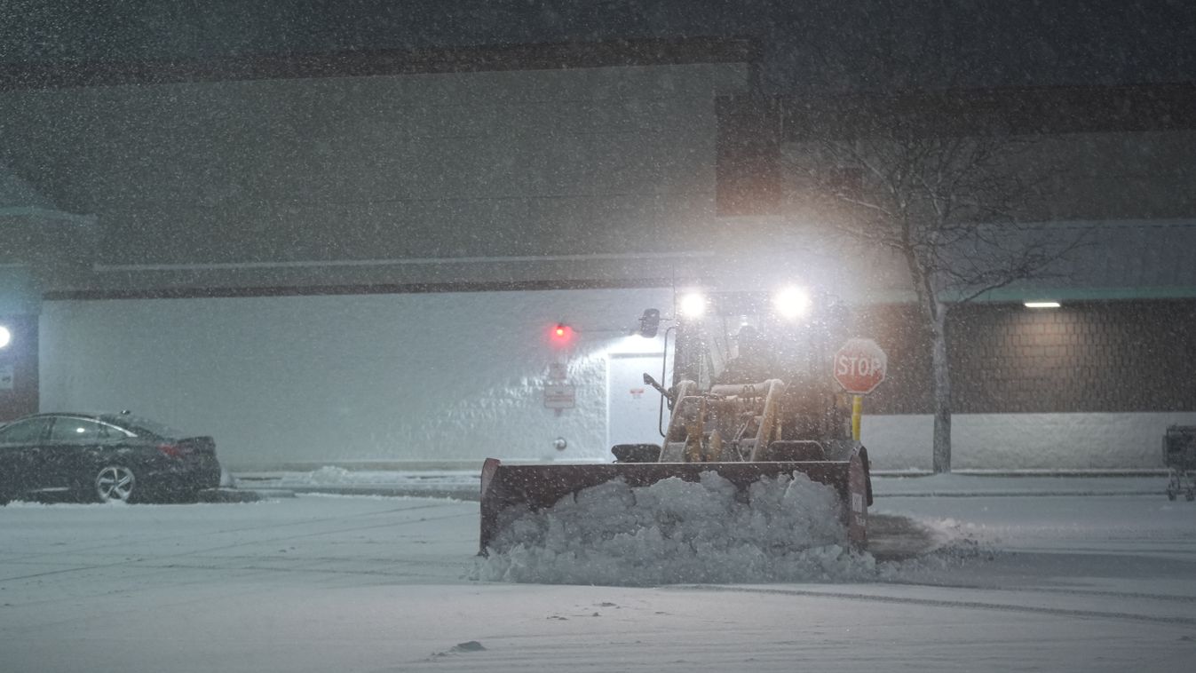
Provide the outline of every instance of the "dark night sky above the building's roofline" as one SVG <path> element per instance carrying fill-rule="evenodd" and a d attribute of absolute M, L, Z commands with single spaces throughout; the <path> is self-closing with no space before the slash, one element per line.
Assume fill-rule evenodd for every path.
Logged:
<path fill-rule="evenodd" d="M 759 38 L 797 88 L 1196 81 L 1196 0 L 0 0 L 0 61 Z M 780 67 L 780 66 L 786 67 Z"/>

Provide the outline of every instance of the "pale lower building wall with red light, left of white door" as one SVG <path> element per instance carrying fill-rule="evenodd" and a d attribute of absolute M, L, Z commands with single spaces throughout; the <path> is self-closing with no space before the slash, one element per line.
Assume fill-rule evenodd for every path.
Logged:
<path fill-rule="evenodd" d="M 628 335 L 643 308 L 671 301 L 667 290 L 49 301 L 41 406 L 129 409 L 212 434 L 234 470 L 603 460 L 606 359 L 660 353 L 663 342 Z M 549 337 L 557 322 L 574 330 L 567 347 Z M 560 415 L 544 405 L 554 363 L 575 386 Z"/>

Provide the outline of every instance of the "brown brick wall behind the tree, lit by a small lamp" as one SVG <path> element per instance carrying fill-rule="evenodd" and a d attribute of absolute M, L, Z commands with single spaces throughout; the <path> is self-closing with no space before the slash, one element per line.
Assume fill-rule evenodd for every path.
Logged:
<path fill-rule="evenodd" d="M 929 345 L 914 307 L 862 310 L 856 332 L 889 354 L 868 411 L 930 412 Z M 950 338 L 956 412 L 1196 410 L 1196 301 L 962 306 Z"/>

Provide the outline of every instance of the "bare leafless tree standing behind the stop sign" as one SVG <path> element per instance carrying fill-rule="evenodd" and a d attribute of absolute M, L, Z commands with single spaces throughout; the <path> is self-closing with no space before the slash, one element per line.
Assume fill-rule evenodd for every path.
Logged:
<path fill-rule="evenodd" d="M 868 129 L 853 140 L 813 139 L 836 179 L 814 183 L 852 241 L 904 261 L 930 343 L 933 469 L 951 471 L 951 375 L 947 314 L 1017 281 L 1043 277 L 1081 241 L 1023 221 L 1042 196 L 1042 175 L 1026 173 L 1030 141 L 980 134 L 939 136 L 914 129 Z M 826 176 L 823 170 L 822 176 Z M 844 179 L 844 175 L 847 179 Z M 825 206 L 826 203 L 824 203 Z"/>

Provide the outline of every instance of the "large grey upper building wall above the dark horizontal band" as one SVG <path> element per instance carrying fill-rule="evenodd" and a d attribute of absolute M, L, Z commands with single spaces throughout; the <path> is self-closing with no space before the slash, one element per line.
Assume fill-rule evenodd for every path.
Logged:
<path fill-rule="evenodd" d="M 445 280 L 318 268 L 389 259 L 469 281 L 453 261 L 708 247 L 714 98 L 745 84 L 682 63 L 6 91 L 0 159 L 97 214 L 86 287 Z M 124 273 L 147 265 L 170 274 Z"/>

